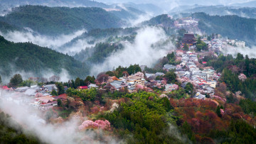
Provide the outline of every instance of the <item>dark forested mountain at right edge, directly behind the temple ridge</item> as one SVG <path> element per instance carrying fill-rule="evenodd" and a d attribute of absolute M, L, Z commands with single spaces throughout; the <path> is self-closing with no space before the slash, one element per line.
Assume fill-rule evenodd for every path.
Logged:
<path fill-rule="evenodd" d="M 248 45 L 256 44 L 256 19 L 239 16 L 210 16 L 206 13 L 193 13 L 192 16 L 200 20 L 198 28 L 201 31 L 244 40 Z"/>

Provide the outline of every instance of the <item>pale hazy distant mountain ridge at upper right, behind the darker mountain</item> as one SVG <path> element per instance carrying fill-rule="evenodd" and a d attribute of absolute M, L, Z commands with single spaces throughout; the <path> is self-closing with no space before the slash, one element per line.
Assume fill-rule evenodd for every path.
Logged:
<path fill-rule="evenodd" d="M 256 8 L 236 8 L 236 7 L 228 7 L 228 6 L 197 6 L 196 8 L 191 8 L 187 6 L 186 9 L 176 9 L 176 11 L 172 11 L 171 14 L 174 15 L 176 13 L 198 13 L 203 12 L 209 15 L 237 15 L 245 18 L 256 18 Z"/>

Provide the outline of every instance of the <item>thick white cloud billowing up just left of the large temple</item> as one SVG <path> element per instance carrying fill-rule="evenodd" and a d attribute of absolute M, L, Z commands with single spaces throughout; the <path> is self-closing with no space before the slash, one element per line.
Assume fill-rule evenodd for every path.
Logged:
<path fill-rule="evenodd" d="M 151 67 L 159 58 L 167 55 L 169 50 L 174 49 L 174 45 L 168 43 L 164 46 L 153 47 L 156 43 L 168 40 L 162 28 L 145 27 L 137 32 L 134 43 L 124 43 L 124 50 L 113 53 L 100 65 L 92 67 L 91 74 L 112 70 L 119 65 L 129 67 L 129 65 L 139 64 Z"/>

